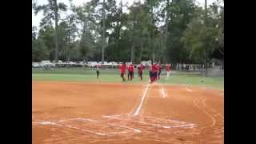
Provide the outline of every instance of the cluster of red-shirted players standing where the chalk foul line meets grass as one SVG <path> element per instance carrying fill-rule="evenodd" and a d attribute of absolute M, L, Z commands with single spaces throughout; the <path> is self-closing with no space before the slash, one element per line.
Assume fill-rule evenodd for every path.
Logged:
<path fill-rule="evenodd" d="M 134 79 L 134 65 L 130 64 L 126 66 L 126 63 L 123 62 L 122 65 L 119 66 L 119 72 L 121 74 L 122 82 L 126 82 L 126 69 L 128 70 L 128 81 L 132 81 Z M 144 66 L 140 64 L 138 66 L 138 76 L 141 78 L 142 81 L 142 74 L 143 74 Z M 170 64 L 166 64 L 166 73 L 167 77 L 170 77 Z M 152 66 L 150 66 L 150 83 L 160 80 L 160 75 L 162 72 L 162 66 L 158 62 L 154 62 Z"/>

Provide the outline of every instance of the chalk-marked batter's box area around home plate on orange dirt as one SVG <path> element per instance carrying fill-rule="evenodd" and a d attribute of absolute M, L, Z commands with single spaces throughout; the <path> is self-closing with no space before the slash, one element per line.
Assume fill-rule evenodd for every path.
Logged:
<path fill-rule="evenodd" d="M 150 116 L 134 115 L 104 115 L 102 118 L 66 118 L 57 121 L 32 122 L 39 126 L 58 126 L 72 130 L 95 134 L 98 136 L 112 136 L 117 134 L 141 134 L 151 129 L 194 128 L 196 125 L 173 119 L 154 118 Z M 156 133 L 157 134 L 157 133 Z"/>

